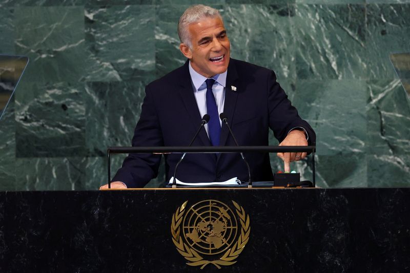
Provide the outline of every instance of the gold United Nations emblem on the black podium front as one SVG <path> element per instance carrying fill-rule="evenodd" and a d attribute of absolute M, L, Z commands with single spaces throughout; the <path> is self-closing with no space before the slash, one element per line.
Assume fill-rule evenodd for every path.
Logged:
<path fill-rule="evenodd" d="M 189 208 L 187 203 L 177 208 L 171 223 L 172 241 L 187 264 L 201 269 L 213 264 L 220 269 L 236 263 L 251 232 L 243 207 L 232 201 L 234 213 L 217 200 L 203 200 Z"/>

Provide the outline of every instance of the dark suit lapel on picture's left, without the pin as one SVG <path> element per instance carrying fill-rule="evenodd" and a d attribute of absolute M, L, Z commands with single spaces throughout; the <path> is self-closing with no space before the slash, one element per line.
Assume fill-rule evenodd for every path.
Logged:
<path fill-rule="evenodd" d="M 180 81 L 179 83 L 179 93 L 182 97 L 183 104 L 185 108 L 187 109 L 188 116 L 189 116 L 189 119 L 191 120 L 192 126 L 194 127 L 194 130 L 196 132 L 196 130 L 198 129 L 201 123 L 202 117 L 200 116 L 198 105 L 196 103 L 196 99 L 194 95 L 194 91 L 192 89 L 191 75 L 189 74 L 188 63 L 189 61 L 187 61 L 185 65 L 183 66 L 183 72 L 182 72 L 183 75 L 180 77 L 183 80 Z M 202 129 L 199 132 L 198 137 L 202 141 L 203 145 L 206 145 L 206 146 L 212 145 L 205 129 Z"/>

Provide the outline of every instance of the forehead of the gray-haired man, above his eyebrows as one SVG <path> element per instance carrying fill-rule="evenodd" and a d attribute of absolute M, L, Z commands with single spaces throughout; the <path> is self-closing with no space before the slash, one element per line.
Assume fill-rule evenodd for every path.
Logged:
<path fill-rule="evenodd" d="M 205 17 L 198 22 L 192 23 L 188 27 L 193 39 L 200 39 L 206 36 L 212 36 L 225 30 L 223 22 L 219 17 Z"/>

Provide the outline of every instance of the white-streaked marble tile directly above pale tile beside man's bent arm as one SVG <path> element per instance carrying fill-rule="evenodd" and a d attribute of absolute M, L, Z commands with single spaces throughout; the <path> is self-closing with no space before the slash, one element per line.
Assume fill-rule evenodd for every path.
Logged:
<path fill-rule="evenodd" d="M 365 6 L 297 5 L 298 78 L 365 78 Z"/>

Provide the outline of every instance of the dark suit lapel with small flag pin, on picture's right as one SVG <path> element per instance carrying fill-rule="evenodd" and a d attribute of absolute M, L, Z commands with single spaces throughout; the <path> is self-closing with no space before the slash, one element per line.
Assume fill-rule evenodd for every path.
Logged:
<path fill-rule="evenodd" d="M 232 90 L 232 87 L 236 87 L 236 90 Z M 231 126 L 231 128 L 236 101 L 238 99 L 238 92 L 240 91 L 240 87 L 238 87 L 238 74 L 236 72 L 234 61 L 233 59 L 231 59 L 229 62 L 227 82 L 225 87 L 225 104 L 223 106 L 223 113 L 227 115 L 228 123 Z M 224 146 L 226 144 L 228 136 L 229 129 L 227 125 L 222 124 L 221 138 L 219 141 L 220 146 Z"/>

